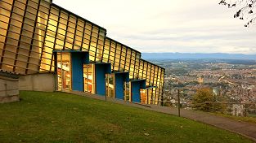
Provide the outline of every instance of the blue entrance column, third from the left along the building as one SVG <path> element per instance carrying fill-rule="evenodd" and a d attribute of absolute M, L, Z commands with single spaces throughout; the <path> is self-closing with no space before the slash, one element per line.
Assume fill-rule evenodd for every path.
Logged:
<path fill-rule="evenodd" d="M 124 82 L 129 81 L 129 72 L 115 73 L 115 98 L 124 100 Z"/>

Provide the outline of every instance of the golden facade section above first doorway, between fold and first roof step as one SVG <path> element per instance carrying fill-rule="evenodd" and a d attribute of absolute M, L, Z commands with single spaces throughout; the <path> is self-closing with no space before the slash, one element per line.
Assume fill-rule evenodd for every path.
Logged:
<path fill-rule="evenodd" d="M 89 51 L 91 61 L 101 61 L 106 29 L 54 4 L 51 5 L 49 13 L 45 53 L 52 50 L 82 50 Z M 46 57 L 51 57 L 52 60 L 42 57 L 41 70 L 53 70 L 53 56 Z"/>

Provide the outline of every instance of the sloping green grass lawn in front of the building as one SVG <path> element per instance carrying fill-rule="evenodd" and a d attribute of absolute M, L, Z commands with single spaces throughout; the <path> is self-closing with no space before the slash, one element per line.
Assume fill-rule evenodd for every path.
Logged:
<path fill-rule="evenodd" d="M 69 93 L 0 104 L 0 142 L 251 142 L 189 119 Z"/>

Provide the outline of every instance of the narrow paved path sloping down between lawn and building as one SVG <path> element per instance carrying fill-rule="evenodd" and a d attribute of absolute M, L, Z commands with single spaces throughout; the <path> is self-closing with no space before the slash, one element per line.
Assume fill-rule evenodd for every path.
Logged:
<path fill-rule="evenodd" d="M 125 102 L 124 100 L 119 100 L 115 98 L 106 98 L 105 96 L 99 96 L 91 93 L 81 93 L 71 91 L 71 93 L 85 96 L 88 98 L 94 98 L 99 100 L 106 100 L 107 102 L 115 102 L 119 104 L 123 104 L 126 106 L 134 106 L 143 108 L 150 111 L 157 111 L 169 115 L 177 115 L 176 108 L 170 108 L 166 106 L 155 106 L 155 105 L 141 105 L 134 102 Z M 181 116 L 187 119 L 193 119 L 195 121 L 199 121 L 204 124 L 210 124 L 218 128 L 222 128 L 231 132 L 236 132 L 240 135 L 245 137 L 249 137 L 254 142 L 256 142 L 256 124 L 249 124 L 242 121 L 237 121 L 234 119 L 229 119 L 217 115 L 210 115 L 209 113 L 204 113 L 201 111 L 188 111 L 188 110 L 181 110 Z"/>

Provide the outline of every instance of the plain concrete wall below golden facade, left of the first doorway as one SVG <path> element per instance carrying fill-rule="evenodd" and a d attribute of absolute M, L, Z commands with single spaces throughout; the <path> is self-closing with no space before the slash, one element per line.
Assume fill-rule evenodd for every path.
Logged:
<path fill-rule="evenodd" d="M 55 75 L 54 73 L 38 73 L 33 75 L 20 76 L 19 87 L 20 90 L 33 91 L 55 91 Z"/>

